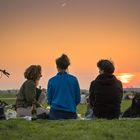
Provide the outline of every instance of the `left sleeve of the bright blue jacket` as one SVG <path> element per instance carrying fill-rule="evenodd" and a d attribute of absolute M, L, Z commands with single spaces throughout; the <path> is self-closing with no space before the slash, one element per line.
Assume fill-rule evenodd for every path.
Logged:
<path fill-rule="evenodd" d="M 48 82 L 47 94 L 48 94 L 48 98 L 47 98 L 48 104 L 51 105 L 52 98 L 53 98 L 53 87 L 50 81 Z"/>

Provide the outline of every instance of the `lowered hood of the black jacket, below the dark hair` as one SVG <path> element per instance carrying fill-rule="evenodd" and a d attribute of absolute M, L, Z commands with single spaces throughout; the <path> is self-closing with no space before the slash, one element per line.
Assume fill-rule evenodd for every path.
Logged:
<path fill-rule="evenodd" d="M 95 81 L 102 85 L 113 85 L 114 83 L 116 83 L 117 78 L 111 74 L 100 74 L 97 76 Z"/>

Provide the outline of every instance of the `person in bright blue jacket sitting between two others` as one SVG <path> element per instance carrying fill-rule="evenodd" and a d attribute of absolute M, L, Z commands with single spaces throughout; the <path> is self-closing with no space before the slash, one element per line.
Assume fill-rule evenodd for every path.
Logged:
<path fill-rule="evenodd" d="M 58 73 L 48 82 L 49 118 L 76 119 L 76 106 L 80 103 L 80 87 L 76 77 L 68 73 L 70 60 L 63 54 L 56 59 Z"/>

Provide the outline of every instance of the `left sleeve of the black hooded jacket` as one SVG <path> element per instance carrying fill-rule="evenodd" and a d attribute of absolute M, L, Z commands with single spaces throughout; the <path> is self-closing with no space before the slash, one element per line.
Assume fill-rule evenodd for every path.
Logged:
<path fill-rule="evenodd" d="M 95 101 L 94 84 L 95 84 L 94 81 L 91 82 L 89 88 L 89 104 L 91 107 L 93 107 L 93 102 Z"/>

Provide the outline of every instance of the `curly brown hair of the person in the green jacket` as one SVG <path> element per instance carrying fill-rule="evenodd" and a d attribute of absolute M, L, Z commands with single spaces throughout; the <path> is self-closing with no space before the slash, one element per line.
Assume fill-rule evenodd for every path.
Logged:
<path fill-rule="evenodd" d="M 42 77 L 41 66 L 40 65 L 29 66 L 24 72 L 24 77 L 27 80 L 33 80 L 33 81 L 39 80 L 40 77 Z"/>

